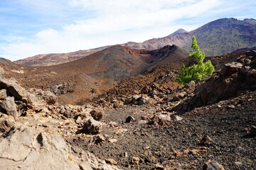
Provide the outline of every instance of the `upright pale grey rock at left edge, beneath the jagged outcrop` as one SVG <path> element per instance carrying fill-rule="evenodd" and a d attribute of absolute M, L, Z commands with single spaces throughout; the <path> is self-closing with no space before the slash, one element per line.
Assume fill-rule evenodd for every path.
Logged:
<path fill-rule="evenodd" d="M 17 118 L 18 116 L 20 116 L 18 114 L 17 108 L 16 108 L 16 103 L 14 101 L 14 97 L 6 97 L 4 98 L 4 101 L 2 103 L 0 103 L 0 108 L 2 110 L 4 110 L 4 112 L 7 115 L 12 115 L 14 116 L 14 118 Z"/>

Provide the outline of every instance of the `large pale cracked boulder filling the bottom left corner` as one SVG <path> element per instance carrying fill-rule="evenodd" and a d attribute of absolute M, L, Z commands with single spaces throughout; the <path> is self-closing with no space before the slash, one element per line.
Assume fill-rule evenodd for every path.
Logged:
<path fill-rule="evenodd" d="M 7 136 L 0 138 L 0 169 L 112 170 L 117 167 L 72 148 L 60 135 L 17 123 Z"/>

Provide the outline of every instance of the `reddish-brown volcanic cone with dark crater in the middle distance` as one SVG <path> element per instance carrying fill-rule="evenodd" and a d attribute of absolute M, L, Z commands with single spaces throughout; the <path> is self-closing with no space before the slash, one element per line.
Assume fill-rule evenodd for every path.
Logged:
<path fill-rule="evenodd" d="M 6 64 L 2 60 L 4 72 L 15 77 L 27 89 L 36 87 L 48 89 L 58 95 L 62 103 L 75 103 L 92 98 L 110 89 L 122 79 L 144 72 L 158 65 L 180 62 L 188 57 L 188 52 L 176 45 L 159 50 L 133 50 L 116 45 L 82 57 L 73 62 L 49 67 L 21 67 Z"/>

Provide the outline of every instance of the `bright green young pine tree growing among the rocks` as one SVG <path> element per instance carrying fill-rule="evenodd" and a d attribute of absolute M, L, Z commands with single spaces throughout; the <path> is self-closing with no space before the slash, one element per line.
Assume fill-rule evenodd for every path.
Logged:
<path fill-rule="evenodd" d="M 181 86 L 184 86 L 190 81 L 201 81 L 201 79 L 213 74 L 215 70 L 210 60 L 208 62 L 203 62 L 206 56 L 199 50 L 195 36 L 192 39 L 191 47 L 193 48 L 193 53 L 188 57 L 196 60 L 198 63 L 193 64 L 188 68 L 186 68 L 185 64 L 181 65 L 180 73 L 178 74 L 178 82 Z"/>

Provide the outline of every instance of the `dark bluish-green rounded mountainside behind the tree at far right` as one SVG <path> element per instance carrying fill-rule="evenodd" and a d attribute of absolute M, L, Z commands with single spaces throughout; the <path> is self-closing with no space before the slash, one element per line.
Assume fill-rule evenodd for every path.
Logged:
<path fill-rule="evenodd" d="M 242 47 L 255 47 L 256 20 L 222 18 L 189 33 L 196 36 L 199 47 L 207 56 L 223 55 Z"/>

